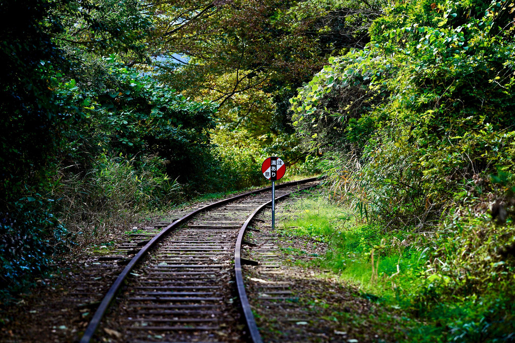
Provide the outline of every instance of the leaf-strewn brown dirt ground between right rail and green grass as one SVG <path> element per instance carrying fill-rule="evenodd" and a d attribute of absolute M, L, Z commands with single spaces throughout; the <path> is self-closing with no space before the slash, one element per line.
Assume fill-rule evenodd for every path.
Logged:
<path fill-rule="evenodd" d="M 278 222 L 288 203 L 281 203 Z M 272 230 L 271 211 L 263 212 L 246 239 L 244 277 L 256 323 L 265 342 L 394 342 L 403 340 L 402 314 L 382 308 L 355 285 L 329 270 L 310 266 L 329 248 L 312 238 Z M 301 262 L 301 263 L 299 263 Z M 269 267 L 273 266 L 273 267 Z"/>

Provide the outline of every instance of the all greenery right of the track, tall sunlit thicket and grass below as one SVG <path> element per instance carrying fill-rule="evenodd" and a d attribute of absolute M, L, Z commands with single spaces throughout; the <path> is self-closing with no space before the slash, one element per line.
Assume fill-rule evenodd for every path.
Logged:
<path fill-rule="evenodd" d="M 359 218 L 312 227 L 323 263 L 421 318 L 413 341 L 513 339 L 514 5 L 386 6 L 290 100 L 328 196 Z"/>

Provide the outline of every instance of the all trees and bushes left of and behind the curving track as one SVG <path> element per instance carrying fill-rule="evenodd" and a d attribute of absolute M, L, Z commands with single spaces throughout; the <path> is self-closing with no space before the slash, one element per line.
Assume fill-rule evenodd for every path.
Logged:
<path fill-rule="evenodd" d="M 330 1 L 1 2 L 3 294 L 136 213 L 263 183 L 265 155 L 306 171 L 313 159 L 302 164 L 288 99 L 333 51 L 364 46 L 377 11 Z"/>

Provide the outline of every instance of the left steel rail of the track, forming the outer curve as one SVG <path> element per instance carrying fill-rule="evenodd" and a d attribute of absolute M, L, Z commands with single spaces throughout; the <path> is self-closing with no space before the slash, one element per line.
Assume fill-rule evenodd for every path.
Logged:
<path fill-rule="evenodd" d="M 298 181 L 291 181 L 291 182 L 287 182 L 287 183 L 284 183 L 284 184 L 280 184 L 276 188 L 284 188 L 284 187 L 295 185 L 295 184 L 300 185 L 301 183 L 311 182 L 311 181 L 314 181 L 316 179 L 317 179 L 316 177 L 312 177 L 312 178 L 307 178 L 307 179 L 298 180 Z M 138 252 L 138 254 L 136 254 L 130 260 L 130 262 L 122 270 L 122 273 L 119 274 L 119 276 L 116 278 L 114 283 L 111 285 L 111 288 L 109 288 L 109 291 L 106 293 L 104 299 L 102 299 L 102 302 L 100 303 L 100 305 L 98 305 L 98 308 L 95 311 L 95 314 L 93 315 L 92 319 L 90 320 L 90 322 L 88 324 L 88 327 L 84 331 L 84 335 L 80 339 L 80 343 L 89 343 L 91 341 L 91 339 L 93 338 L 93 335 L 95 334 L 96 330 L 98 329 L 98 326 L 100 325 L 100 321 L 102 320 L 102 318 L 104 317 L 107 309 L 109 308 L 110 303 L 115 298 L 116 293 L 118 292 L 118 290 L 122 286 L 123 282 L 125 281 L 125 279 L 129 275 L 131 270 L 147 254 L 148 250 L 150 250 L 150 248 L 155 246 L 159 241 L 161 241 L 164 237 L 166 237 L 166 235 L 168 233 L 170 233 L 174 229 L 178 228 L 180 225 L 182 225 L 187 220 L 190 220 L 196 214 L 199 214 L 199 213 L 201 213 L 203 211 L 212 209 L 214 207 L 218 207 L 218 206 L 221 206 L 221 205 L 225 205 L 227 203 L 231 203 L 231 202 L 239 200 L 239 199 L 241 199 L 241 198 L 243 198 L 243 197 L 245 197 L 247 195 L 263 193 L 263 192 L 266 192 L 266 191 L 268 191 L 270 189 L 271 189 L 271 187 L 265 187 L 265 188 L 262 188 L 262 189 L 246 192 L 246 193 L 243 193 L 243 194 L 239 194 L 239 195 L 236 195 L 236 196 L 224 199 L 224 200 L 220 200 L 220 201 L 215 202 L 213 204 L 209 204 L 209 205 L 203 206 L 203 207 L 201 207 L 201 208 L 199 208 L 199 209 L 197 209 L 197 210 L 195 210 L 193 212 L 190 212 L 190 213 L 184 215 L 182 218 L 180 218 L 180 219 L 176 220 L 175 222 L 171 223 L 170 225 L 165 227 L 163 230 L 161 230 L 161 232 L 156 234 L 156 236 L 154 236 L 143 248 L 141 248 L 141 250 Z"/>

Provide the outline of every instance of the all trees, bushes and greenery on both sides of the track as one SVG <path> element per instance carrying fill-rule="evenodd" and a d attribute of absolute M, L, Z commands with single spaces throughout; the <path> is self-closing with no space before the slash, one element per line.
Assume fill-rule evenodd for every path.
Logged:
<path fill-rule="evenodd" d="M 379 257 L 369 291 L 427 320 L 413 339 L 512 339 L 513 0 L 22 0 L 0 15 L 5 297 L 135 213 L 261 183 L 278 154 L 299 172 L 319 160 L 325 196 L 355 211 L 299 233 L 331 242 L 322 263 L 343 275 Z"/>

